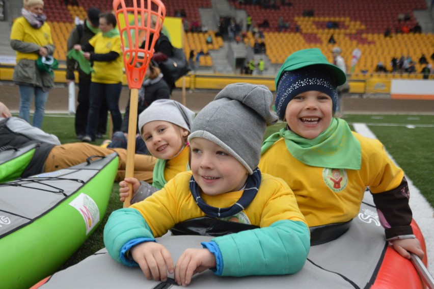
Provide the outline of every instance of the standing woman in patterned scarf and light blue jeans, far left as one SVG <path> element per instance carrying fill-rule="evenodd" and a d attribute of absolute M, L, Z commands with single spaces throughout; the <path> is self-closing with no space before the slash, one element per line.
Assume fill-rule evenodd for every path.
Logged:
<path fill-rule="evenodd" d="M 54 86 L 49 71 L 37 68 L 39 57 L 52 60 L 55 50 L 51 30 L 43 14 L 42 0 L 24 0 L 21 17 L 15 19 L 11 30 L 11 47 L 16 51 L 13 81 L 19 87 L 19 117 L 30 123 L 30 107 L 35 95 L 33 126 L 40 128 L 44 118 L 48 91 Z"/>

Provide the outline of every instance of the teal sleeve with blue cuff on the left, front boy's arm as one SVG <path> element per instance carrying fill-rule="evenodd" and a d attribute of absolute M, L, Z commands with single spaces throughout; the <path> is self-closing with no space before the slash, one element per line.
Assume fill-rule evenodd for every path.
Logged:
<path fill-rule="evenodd" d="M 114 211 L 104 226 L 104 245 L 108 254 L 117 262 L 125 264 L 124 245 L 135 239 L 149 241 L 154 239 L 152 230 L 143 216 L 134 208 L 122 208 Z"/>

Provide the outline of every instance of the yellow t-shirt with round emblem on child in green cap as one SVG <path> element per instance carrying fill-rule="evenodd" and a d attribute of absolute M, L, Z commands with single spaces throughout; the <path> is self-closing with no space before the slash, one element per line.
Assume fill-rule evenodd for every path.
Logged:
<path fill-rule="evenodd" d="M 403 171 L 381 142 L 353 134 L 362 148 L 360 170 L 305 165 L 289 153 L 283 138 L 261 155 L 261 172 L 288 183 L 310 227 L 349 221 L 359 213 L 366 187 L 372 193 L 382 193 L 402 181 Z"/>

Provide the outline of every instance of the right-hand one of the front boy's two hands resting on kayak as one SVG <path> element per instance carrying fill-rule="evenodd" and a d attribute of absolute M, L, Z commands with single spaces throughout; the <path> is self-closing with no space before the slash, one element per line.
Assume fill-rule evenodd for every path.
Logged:
<path fill-rule="evenodd" d="M 192 276 L 217 265 L 215 256 L 208 249 L 187 249 L 179 257 L 175 265 L 175 281 L 186 286 Z"/>

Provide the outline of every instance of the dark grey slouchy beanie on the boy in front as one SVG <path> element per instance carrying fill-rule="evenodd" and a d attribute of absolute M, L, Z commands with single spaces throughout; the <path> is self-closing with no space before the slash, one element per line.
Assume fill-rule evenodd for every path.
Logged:
<path fill-rule="evenodd" d="M 272 101 L 264 85 L 230 84 L 198 113 L 188 141 L 203 138 L 221 146 L 252 174 L 259 164 L 266 127 L 278 120 L 270 112 Z"/>

